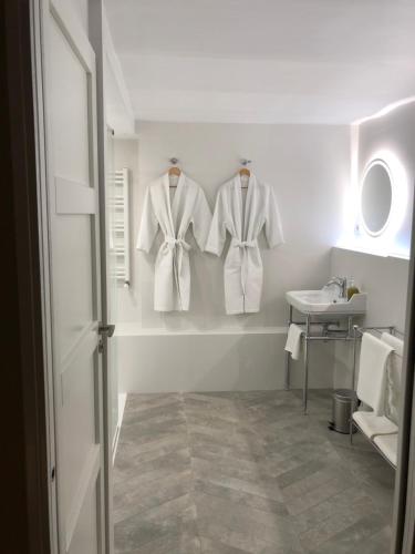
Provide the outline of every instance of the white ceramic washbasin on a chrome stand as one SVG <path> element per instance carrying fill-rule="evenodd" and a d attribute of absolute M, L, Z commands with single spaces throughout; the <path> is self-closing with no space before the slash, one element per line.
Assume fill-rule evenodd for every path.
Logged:
<path fill-rule="evenodd" d="M 353 295 L 350 300 L 339 298 L 330 290 L 290 290 L 288 304 L 301 314 L 352 315 L 366 312 L 366 293 Z"/>

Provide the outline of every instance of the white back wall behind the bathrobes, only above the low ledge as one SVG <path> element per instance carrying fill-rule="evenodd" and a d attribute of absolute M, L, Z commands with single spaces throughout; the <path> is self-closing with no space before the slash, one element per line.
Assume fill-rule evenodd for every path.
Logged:
<path fill-rule="evenodd" d="M 132 214 L 137 234 L 146 185 L 177 156 L 183 170 L 204 187 L 214 207 L 219 185 L 231 177 L 240 157 L 276 191 L 286 245 L 267 249 L 262 239 L 264 287 L 260 314 L 231 317 L 224 307 L 224 259 L 191 250 L 188 314 L 153 310 L 155 245 L 151 255 L 134 250 L 132 289 L 120 306 L 123 321 L 152 329 L 219 329 L 284 325 L 284 293 L 325 283 L 330 247 L 341 233 L 342 189 L 349 178 L 349 129 L 339 126 L 143 123 Z M 117 164 L 117 152 L 115 156 Z M 190 242 L 194 242 L 190 238 Z"/>

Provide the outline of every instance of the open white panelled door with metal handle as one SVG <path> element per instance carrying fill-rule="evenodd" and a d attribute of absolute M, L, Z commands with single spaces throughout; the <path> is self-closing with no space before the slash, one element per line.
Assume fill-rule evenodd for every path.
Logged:
<path fill-rule="evenodd" d="M 65 0 L 43 2 L 61 553 L 105 551 L 95 58 Z"/>

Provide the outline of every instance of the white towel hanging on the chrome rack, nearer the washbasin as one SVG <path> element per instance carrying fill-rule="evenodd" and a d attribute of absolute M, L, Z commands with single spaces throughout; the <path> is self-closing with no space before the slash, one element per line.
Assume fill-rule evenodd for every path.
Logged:
<path fill-rule="evenodd" d="M 392 351 L 391 345 L 363 334 L 356 392 L 376 416 L 384 413 L 386 362 Z"/>

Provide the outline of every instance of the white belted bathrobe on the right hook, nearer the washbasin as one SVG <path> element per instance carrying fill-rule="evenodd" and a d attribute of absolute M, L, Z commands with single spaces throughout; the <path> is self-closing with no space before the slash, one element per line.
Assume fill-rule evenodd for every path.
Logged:
<path fill-rule="evenodd" d="M 220 256 L 226 232 L 231 236 L 224 269 L 225 306 L 229 315 L 260 309 L 262 260 L 257 239 L 263 226 L 270 248 L 283 242 L 272 187 L 251 173 L 243 209 L 241 177 L 237 174 L 219 188 L 206 244 L 206 250 Z"/>

